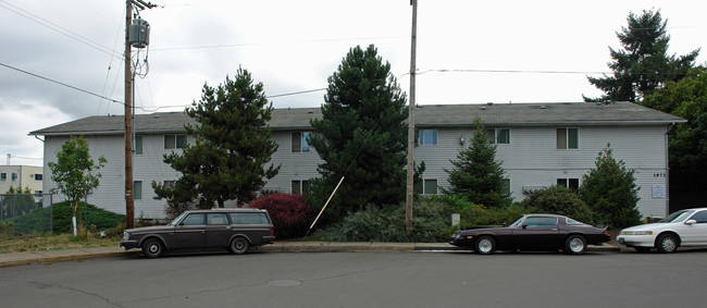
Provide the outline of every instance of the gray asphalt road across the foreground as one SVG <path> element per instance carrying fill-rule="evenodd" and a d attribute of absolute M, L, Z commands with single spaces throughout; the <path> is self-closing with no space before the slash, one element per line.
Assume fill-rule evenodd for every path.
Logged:
<path fill-rule="evenodd" d="M 255 252 L 0 269 L 1 307 L 705 307 L 707 251 Z"/>

